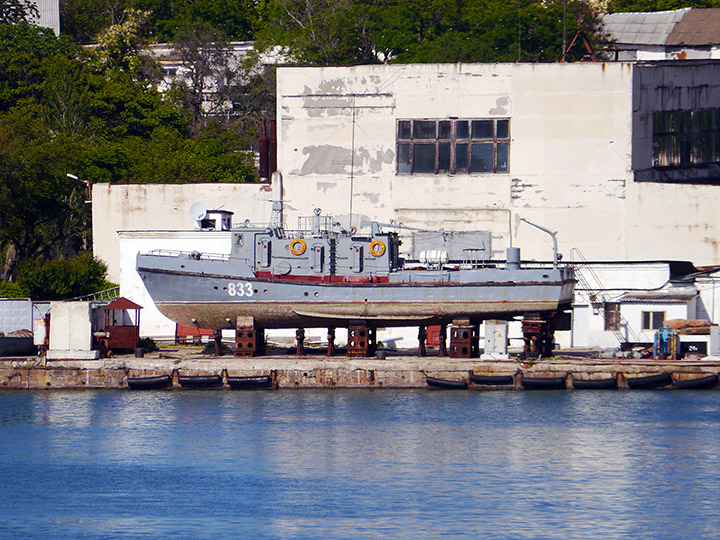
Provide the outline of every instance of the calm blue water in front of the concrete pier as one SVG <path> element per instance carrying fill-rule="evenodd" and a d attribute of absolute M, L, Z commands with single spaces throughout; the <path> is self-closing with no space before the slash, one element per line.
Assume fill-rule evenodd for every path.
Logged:
<path fill-rule="evenodd" d="M 0 392 L 0 538 L 718 538 L 720 392 Z"/>

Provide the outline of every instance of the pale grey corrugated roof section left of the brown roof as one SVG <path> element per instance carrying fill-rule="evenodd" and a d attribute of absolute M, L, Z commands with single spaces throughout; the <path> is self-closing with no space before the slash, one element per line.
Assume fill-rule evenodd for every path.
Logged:
<path fill-rule="evenodd" d="M 618 44 L 665 45 L 675 25 L 689 11 L 690 8 L 654 13 L 611 13 L 603 15 L 602 21 L 605 31 Z"/>

